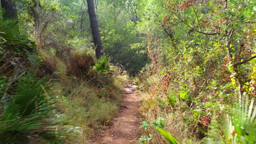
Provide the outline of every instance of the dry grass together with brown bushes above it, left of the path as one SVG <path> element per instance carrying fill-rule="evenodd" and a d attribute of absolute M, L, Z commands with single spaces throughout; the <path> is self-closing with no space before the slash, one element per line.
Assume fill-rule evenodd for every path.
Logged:
<path fill-rule="evenodd" d="M 85 143 L 90 135 L 101 130 L 118 112 L 122 83 L 127 76 L 112 66 L 113 75 L 99 75 L 90 51 L 75 51 L 67 62 L 56 56 L 56 51 L 42 51 L 45 74 L 55 74 L 51 93 L 57 97 L 57 111 L 61 119 L 71 121 L 68 134 L 76 135 L 73 143 Z M 63 72 L 63 73 L 60 73 Z M 56 75 L 56 73 L 60 75 Z M 89 142 L 90 143 L 90 142 Z"/>

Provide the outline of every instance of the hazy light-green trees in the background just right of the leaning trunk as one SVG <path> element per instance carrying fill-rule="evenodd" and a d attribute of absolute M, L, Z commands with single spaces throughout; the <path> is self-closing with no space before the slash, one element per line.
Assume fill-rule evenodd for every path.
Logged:
<path fill-rule="evenodd" d="M 114 64 L 135 75 L 148 63 L 146 45 L 135 27 L 138 17 L 133 1 L 98 2 L 97 12 L 104 52 Z"/>

